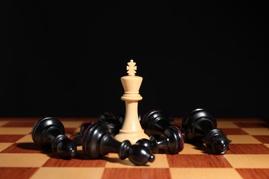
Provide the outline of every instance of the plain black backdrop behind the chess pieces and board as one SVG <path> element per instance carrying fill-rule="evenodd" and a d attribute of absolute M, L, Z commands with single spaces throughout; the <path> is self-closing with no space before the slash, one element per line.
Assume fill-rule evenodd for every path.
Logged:
<path fill-rule="evenodd" d="M 134 59 L 141 114 L 268 118 L 266 4 L 176 2 L 1 1 L 0 116 L 121 114 Z"/>

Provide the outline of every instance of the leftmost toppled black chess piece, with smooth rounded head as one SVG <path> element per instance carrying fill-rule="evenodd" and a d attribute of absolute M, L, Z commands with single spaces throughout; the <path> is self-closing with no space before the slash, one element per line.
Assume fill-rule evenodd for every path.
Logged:
<path fill-rule="evenodd" d="M 45 117 L 32 128 L 32 140 L 44 150 L 56 151 L 63 158 L 75 156 L 77 146 L 65 135 L 63 123 L 57 118 Z"/>

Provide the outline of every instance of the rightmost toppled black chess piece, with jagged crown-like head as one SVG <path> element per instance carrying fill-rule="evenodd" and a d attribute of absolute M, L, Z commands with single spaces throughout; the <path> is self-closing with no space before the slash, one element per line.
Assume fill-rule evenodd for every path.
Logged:
<path fill-rule="evenodd" d="M 206 109 L 192 109 L 183 116 L 188 143 L 205 143 L 216 154 L 225 154 L 231 140 L 217 129 L 217 120 Z"/>

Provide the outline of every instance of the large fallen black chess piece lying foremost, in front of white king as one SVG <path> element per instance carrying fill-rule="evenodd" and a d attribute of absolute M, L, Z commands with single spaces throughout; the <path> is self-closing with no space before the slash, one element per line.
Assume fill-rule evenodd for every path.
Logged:
<path fill-rule="evenodd" d="M 90 158 L 100 158 L 108 153 L 119 154 L 121 160 L 128 158 L 135 165 L 153 162 L 155 156 L 143 145 L 131 145 L 129 140 L 122 143 L 114 138 L 110 128 L 103 123 L 92 123 L 82 136 L 82 149 Z"/>

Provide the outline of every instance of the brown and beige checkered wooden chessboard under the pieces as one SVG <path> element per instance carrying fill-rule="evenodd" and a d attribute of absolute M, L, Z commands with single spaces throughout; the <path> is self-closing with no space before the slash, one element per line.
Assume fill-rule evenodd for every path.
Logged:
<path fill-rule="evenodd" d="M 92 118 L 58 118 L 69 138 Z M 31 131 L 39 118 L 0 119 L 0 178 L 269 178 L 269 127 L 259 118 L 220 118 L 217 128 L 232 140 L 226 154 L 211 154 L 203 144 L 185 143 L 179 154 L 155 154 L 136 166 L 118 154 L 90 159 L 81 146 L 63 159 L 41 151 Z M 174 118 L 181 125 L 181 118 Z"/>

